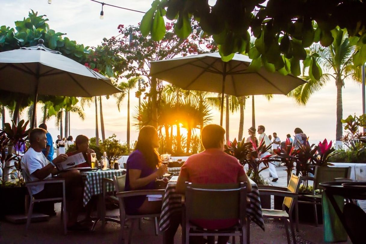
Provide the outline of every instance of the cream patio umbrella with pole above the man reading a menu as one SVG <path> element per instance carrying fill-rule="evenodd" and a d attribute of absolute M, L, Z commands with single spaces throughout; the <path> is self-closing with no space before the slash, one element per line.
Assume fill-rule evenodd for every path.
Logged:
<path fill-rule="evenodd" d="M 121 92 L 111 80 L 60 52 L 37 46 L 0 52 L 0 89 L 34 94 L 32 128 L 38 94 L 94 97 Z"/>

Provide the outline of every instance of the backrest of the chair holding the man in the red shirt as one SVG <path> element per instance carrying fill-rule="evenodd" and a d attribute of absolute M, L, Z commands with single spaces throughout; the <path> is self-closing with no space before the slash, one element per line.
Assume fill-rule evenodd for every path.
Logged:
<path fill-rule="evenodd" d="M 191 219 L 240 219 L 245 224 L 246 185 L 187 183 L 186 223 Z"/>

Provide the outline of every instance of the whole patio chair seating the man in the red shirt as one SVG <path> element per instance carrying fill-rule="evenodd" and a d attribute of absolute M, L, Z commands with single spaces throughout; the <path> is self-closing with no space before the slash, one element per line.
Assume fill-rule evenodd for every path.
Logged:
<path fill-rule="evenodd" d="M 235 236 L 239 236 L 240 243 L 246 243 L 246 185 L 246 182 L 211 185 L 187 183 L 182 212 L 183 241 L 188 244 L 190 236 L 233 236 L 235 243 Z M 227 229 L 208 230 L 193 224 L 194 219 L 238 219 L 238 223 Z"/>

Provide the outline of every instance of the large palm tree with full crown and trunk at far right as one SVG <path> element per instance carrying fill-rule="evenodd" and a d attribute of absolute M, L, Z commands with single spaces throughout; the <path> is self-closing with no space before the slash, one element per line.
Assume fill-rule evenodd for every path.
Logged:
<path fill-rule="evenodd" d="M 304 61 L 304 66 L 313 68 L 315 60 L 326 72 L 320 74 L 320 79 L 315 80 L 314 77 L 305 76 L 308 83 L 297 87 L 289 96 L 294 97 L 296 102 L 305 105 L 310 96 L 322 89 L 330 78 L 335 79 L 337 87 L 337 110 L 336 110 L 336 141 L 342 138 L 342 87 L 347 76 L 352 76 L 356 82 L 360 82 L 357 74 L 357 68 L 352 62 L 352 54 L 354 46 L 350 44 L 348 36 L 343 30 L 337 28 L 337 38 L 332 45 L 324 48 L 320 44 L 314 44 L 307 50 L 308 58 Z M 315 68 L 315 67 L 314 67 Z M 304 73 L 305 69 L 303 69 Z"/>

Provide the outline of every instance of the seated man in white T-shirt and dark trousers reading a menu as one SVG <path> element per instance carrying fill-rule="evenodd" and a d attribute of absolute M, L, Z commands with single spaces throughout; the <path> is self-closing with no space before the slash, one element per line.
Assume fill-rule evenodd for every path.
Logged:
<path fill-rule="evenodd" d="M 57 178 L 65 179 L 66 207 L 70 217 L 67 221 L 68 230 L 87 230 L 86 226 L 77 223 L 78 213 L 82 207 L 83 182 L 77 169 L 59 172 L 56 165 L 67 159 L 66 154 L 60 154 L 52 162 L 48 161 L 42 150 L 46 148 L 47 131 L 34 128 L 29 132 L 30 147 L 23 155 L 21 166 L 26 182 Z M 31 187 L 31 193 L 36 199 L 56 198 L 62 196 L 62 184 L 40 184 Z"/>

